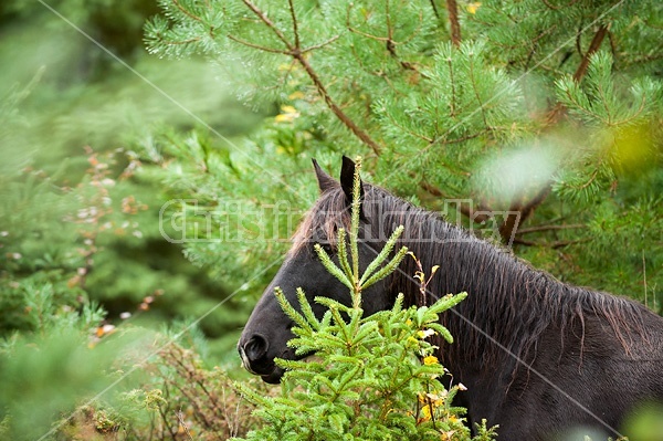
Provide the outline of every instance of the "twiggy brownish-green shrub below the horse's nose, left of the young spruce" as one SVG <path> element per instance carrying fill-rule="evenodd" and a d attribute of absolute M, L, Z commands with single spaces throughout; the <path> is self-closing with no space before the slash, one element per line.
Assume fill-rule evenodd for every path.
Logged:
<path fill-rule="evenodd" d="M 200 332 L 189 330 L 178 342 L 164 335 L 156 345 L 155 357 L 140 365 L 148 380 L 119 400 L 127 440 L 221 441 L 255 427 L 255 406 L 240 397 L 223 369 L 210 368 L 201 357 L 206 349 Z M 256 393 L 273 395 L 257 379 L 246 385 Z"/>

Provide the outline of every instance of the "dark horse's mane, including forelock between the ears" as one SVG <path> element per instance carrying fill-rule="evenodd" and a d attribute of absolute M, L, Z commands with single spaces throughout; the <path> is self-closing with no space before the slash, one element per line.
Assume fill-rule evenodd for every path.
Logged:
<path fill-rule="evenodd" d="M 633 344 L 633 334 L 625 330 L 646 334 L 645 309 L 635 302 L 560 282 L 533 269 L 511 251 L 481 240 L 379 187 L 364 183 L 364 191 L 362 211 L 372 238 L 386 241 L 402 224 L 404 232 L 398 246 L 408 246 L 427 273 L 433 265 L 440 265 L 428 285 L 430 294 L 425 302 L 433 303 L 449 293 L 469 293 L 467 298 L 441 317 L 453 337 L 463 342 L 462 345 L 440 343 L 445 366 L 451 367 L 460 357 L 480 360 L 484 369 L 508 361 L 515 374 L 518 364 L 513 356 L 529 363 L 536 356 L 537 343 L 550 326 L 558 327 L 562 346 L 565 335 L 579 327 L 581 335 L 576 337 L 582 348 L 586 321 L 590 317 L 603 319 L 627 354 Z M 338 228 L 349 230 L 349 223 L 345 193 L 340 187 L 328 189 L 293 237 L 292 252 L 320 238 L 334 245 Z M 403 260 L 391 275 L 390 292 L 386 295 L 396 297 L 403 293 L 407 305 L 421 306 L 419 282 L 412 277 L 417 271 L 413 259 Z"/>

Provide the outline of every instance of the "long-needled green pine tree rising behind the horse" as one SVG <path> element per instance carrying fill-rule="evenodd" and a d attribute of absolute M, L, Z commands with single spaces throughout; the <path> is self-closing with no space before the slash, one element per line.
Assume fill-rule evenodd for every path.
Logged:
<path fill-rule="evenodd" d="M 561 279 L 660 308 L 662 4 L 160 6 L 146 27 L 152 54 L 204 54 L 232 71 L 250 105 L 281 105 L 249 145 L 170 150 L 168 164 L 204 170 L 180 175 L 188 188 L 177 195 L 305 209 L 315 195 L 302 174 L 307 158 L 332 167 L 339 151 L 358 153 L 375 183 L 513 244 Z M 238 280 L 246 256 L 260 264 L 285 249 L 262 243 L 186 246 Z"/>

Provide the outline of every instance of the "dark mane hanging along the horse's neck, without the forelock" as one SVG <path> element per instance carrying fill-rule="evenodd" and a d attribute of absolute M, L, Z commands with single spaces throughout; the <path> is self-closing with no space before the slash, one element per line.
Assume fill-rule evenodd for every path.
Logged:
<path fill-rule="evenodd" d="M 427 277 L 440 265 L 427 286 L 427 303 L 467 293 L 467 298 L 441 316 L 455 344 L 438 342 L 439 356 L 452 371 L 473 365 L 515 372 L 515 359 L 532 361 L 536 343 L 547 329 L 556 329 L 559 345 L 580 338 L 582 347 L 589 316 L 612 328 L 611 338 L 625 355 L 633 336 L 646 334 L 645 309 L 634 302 L 559 282 L 431 213 L 410 207 L 386 219 L 391 231 L 404 227 L 401 244 L 419 259 Z M 414 260 L 406 259 L 391 276 L 389 294 L 403 293 L 406 303 L 421 305 L 420 285 L 413 277 L 418 270 Z"/>

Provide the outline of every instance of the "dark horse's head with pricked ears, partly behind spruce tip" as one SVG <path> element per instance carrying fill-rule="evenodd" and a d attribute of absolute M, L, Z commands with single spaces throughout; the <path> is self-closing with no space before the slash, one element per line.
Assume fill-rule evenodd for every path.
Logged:
<path fill-rule="evenodd" d="M 292 249 L 255 305 L 238 344 L 244 368 L 272 384 L 278 382 L 284 374 L 274 358 L 297 358 L 295 350 L 287 346 L 287 342 L 294 337 L 291 330 L 294 323 L 281 309 L 274 290 L 280 287 L 291 305 L 299 311 L 296 290 L 301 287 L 318 318 L 322 318 L 325 309 L 314 302 L 314 297 L 330 297 L 345 305 L 351 302 L 348 288 L 327 272 L 314 246 L 320 244 L 338 264 L 336 233 L 339 228 L 349 230 L 356 166 L 344 157 L 340 180 L 337 181 L 323 171 L 315 159 L 313 164 L 320 190 L 319 199 L 295 233 Z M 371 221 L 366 211 L 365 187 L 368 186 L 362 183 L 359 227 L 359 266 L 362 269 L 375 259 L 385 242 L 381 234 L 377 233 L 375 219 Z M 364 294 L 362 308 L 366 315 L 390 307 L 393 301 L 389 300 L 387 281 L 376 283 Z"/>

